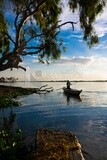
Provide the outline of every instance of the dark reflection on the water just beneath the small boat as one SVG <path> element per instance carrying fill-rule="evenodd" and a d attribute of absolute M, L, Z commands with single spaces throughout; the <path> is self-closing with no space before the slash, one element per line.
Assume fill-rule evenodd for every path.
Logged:
<path fill-rule="evenodd" d="M 63 95 L 64 95 L 64 97 L 66 97 L 67 105 L 69 105 L 70 101 L 82 102 L 82 99 L 79 95 L 74 96 L 74 95 L 70 95 L 70 94 L 66 94 L 66 93 L 63 93 Z"/>

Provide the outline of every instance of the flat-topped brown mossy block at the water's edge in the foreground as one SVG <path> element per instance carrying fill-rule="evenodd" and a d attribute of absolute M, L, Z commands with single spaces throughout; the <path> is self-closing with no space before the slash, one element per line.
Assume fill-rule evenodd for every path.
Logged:
<path fill-rule="evenodd" d="M 81 145 L 71 132 L 39 129 L 36 135 L 35 160 L 85 160 Z"/>

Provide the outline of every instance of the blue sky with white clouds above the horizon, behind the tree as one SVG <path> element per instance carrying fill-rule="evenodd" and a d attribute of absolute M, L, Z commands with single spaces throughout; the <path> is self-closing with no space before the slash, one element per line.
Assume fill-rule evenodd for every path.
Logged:
<path fill-rule="evenodd" d="M 54 63 L 38 63 L 36 56 L 23 58 L 23 66 L 27 71 L 21 69 L 6 70 L 0 72 L 0 77 L 16 77 L 19 80 L 107 80 L 107 7 L 99 15 L 94 24 L 100 43 L 89 49 L 82 40 L 82 31 L 79 26 L 78 12 L 71 14 L 65 6 L 59 17 L 61 23 L 72 20 L 77 22 L 74 31 L 71 25 L 65 25 L 60 33 L 63 38 L 66 52 L 62 52 L 61 59 Z M 8 13 L 9 14 L 9 13 Z"/>

